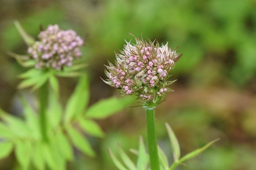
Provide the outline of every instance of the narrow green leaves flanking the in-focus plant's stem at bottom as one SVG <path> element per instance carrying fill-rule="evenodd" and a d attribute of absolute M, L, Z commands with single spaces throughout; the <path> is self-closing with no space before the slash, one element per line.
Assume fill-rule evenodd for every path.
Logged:
<path fill-rule="evenodd" d="M 204 150 L 206 150 L 209 146 L 211 146 L 213 143 L 218 141 L 219 139 L 215 139 L 208 144 L 204 145 L 204 147 L 201 147 L 199 149 L 196 149 L 185 156 L 183 156 L 180 159 L 180 147 L 179 143 L 177 141 L 177 138 L 175 137 L 174 132 L 172 131 L 172 128 L 166 123 L 166 129 L 168 131 L 169 137 L 170 137 L 170 144 L 172 148 L 173 163 L 169 166 L 167 156 L 163 152 L 163 150 L 158 146 L 158 156 L 160 161 L 160 170 L 174 170 L 175 167 L 177 167 L 179 164 L 182 164 L 183 161 L 189 160 L 194 158 L 195 156 L 198 156 L 200 153 L 202 153 Z M 134 153 L 138 156 L 137 159 L 137 166 L 135 167 L 134 163 L 131 161 L 131 159 L 126 155 L 126 153 L 122 150 L 122 148 L 117 145 L 119 155 L 122 159 L 122 162 L 119 161 L 119 159 L 113 154 L 112 150 L 108 148 L 109 154 L 111 156 L 111 159 L 113 160 L 114 164 L 119 170 L 150 170 L 149 167 L 149 156 L 148 153 L 145 151 L 145 145 L 143 142 L 142 137 L 140 137 L 139 142 L 139 150 L 131 149 L 131 153 Z"/>

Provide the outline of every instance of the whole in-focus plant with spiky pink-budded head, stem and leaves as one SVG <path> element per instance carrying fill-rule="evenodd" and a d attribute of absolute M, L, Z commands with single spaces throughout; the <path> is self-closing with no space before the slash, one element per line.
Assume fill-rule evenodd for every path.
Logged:
<path fill-rule="evenodd" d="M 176 48 L 172 50 L 168 43 L 166 43 L 166 45 L 159 45 L 156 40 L 152 42 L 151 40 L 143 40 L 142 37 L 139 39 L 134 36 L 134 38 L 136 43 L 131 43 L 131 41 L 126 42 L 123 50 L 116 53 L 115 64 L 113 65 L 109 62 L 109 66 L 106 66 L 105 74 L 108 79 L 103 79 L 103 81 L 113 88 L 120 89 L 120 94 L 136 95 L 137 98 L 143 102 L 142 106 L 145 108 L 147 121 L 150 169 L 162 170 L 164 168 L 173 170 L 178 164 L 186 160 L 186 156 L 180 159 L 177 139 L 174 133 L 170 133 L 172 132 L 171 128 L 167 126 L 170 138 L 172 139 L 172 150 L 175 162 L 171 167 L 166 166 L 166 164 L 160 166 L 159 160 L 162 162 L 161 160 L 164 156 L 163 152 L 157 148 L 154 109 L 160 102 L 164 101 L 166 93 L 172 91 L 168 85 L 175 82 L 175 80 L 169 81 L 168 79 L 172 76 L 171 71 L 181 55 L 176 52 Z M 209 144 L 206 146 L 209 146 Z M 127 170 L 126 167 L 128 167 L 129 170 L 147 169 L 147 166 L 143 166 L 143 168 L 140 167 L 141 163 L 138 163 L 139 165 L 136 167 L 120 147 L 119 153 L 126 167 L 117 161 L 111 150 L 109 151 L 114 163 L 120 170 Z M 144 153 L 145 152 L 140 154 L 139 160 L 143 159 L 145 164 L 147 156 L 145 156 Z M 194 153 L 192 153 L 192 155 L 193 154 Z M 143 156 L 145 158 L 142 158 Z"/>

